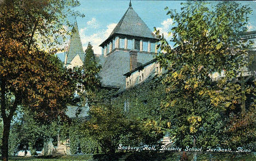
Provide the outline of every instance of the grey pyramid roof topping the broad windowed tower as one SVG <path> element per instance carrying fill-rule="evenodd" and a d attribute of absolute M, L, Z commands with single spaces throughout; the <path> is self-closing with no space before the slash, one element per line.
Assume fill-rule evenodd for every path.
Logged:
<path fill-rule="evenodd" d="M 114 37 L 114 35 L 131 35 L 133 37 L 156 39 L 146 23 L 141 19 L 141 17 L 138 16 L 135 10 L 133 10 L 131 1 L 124 16 L 118 22 L 117 26 L 115 26 L 108 39 L 105 40 L 100 46 L 107 43 L 107 41 Z"/>

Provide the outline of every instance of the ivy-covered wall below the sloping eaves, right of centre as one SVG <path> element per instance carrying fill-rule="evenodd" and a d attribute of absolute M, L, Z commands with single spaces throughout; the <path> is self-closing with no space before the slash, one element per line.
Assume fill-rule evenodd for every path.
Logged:
<path fill-rule="evenodd" d="M 150 80 L 119 93 L 112 104 L 123 107 L 129 118 L 155 118 L 160 115 L 159 107 L 164 95 L 164 85 Z"/>

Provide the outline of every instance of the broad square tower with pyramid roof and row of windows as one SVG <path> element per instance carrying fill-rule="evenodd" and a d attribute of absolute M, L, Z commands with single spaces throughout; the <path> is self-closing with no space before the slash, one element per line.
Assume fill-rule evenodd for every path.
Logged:
<path fill-rule="evenodd" d="M 125 87 L 124 74 L 151 61 L 156 53 L 157 41 L 146 23 L 133 10 L 130 2 L 117 26 L 100 45 L 105 57 L 100 73 L 102 84 Z"/>

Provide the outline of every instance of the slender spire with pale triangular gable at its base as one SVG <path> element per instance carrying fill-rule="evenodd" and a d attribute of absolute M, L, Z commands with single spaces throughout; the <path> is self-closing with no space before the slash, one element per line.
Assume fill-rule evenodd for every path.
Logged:
<path fill-rule="evenodd" d="M 68 44 L 68 50 L 65 55 L 65 62 L 67 68 L 73 68 L 75 66 L 82 66 L 84 62 L 84 51 L 80 35 L 78 32 L 77 21 L 74 22 L 71 38 Z"/>

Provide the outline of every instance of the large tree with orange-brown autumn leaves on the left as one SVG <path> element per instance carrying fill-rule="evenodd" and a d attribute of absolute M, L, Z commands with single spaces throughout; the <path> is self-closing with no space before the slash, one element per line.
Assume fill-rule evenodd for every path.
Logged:
<path fill-rule="evenodd" d="M 53 55 L 63 42 L 77 1 L 4 1 L 0 7 L 2 159 L 8 160 L 10 123 L 18 107 L 50 120 L 64 114 L 75 81 Z M 21 106 L 22 105 L 22 106 Z M 62 115 L 65 116 L 65 115 Z"/>

